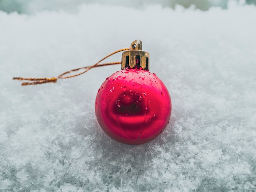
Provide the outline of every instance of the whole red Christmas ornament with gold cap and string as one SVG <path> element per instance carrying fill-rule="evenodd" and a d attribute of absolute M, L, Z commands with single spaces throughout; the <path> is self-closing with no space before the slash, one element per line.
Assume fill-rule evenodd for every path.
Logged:
<path fill-rule="evenodd" d="M 135 40 L 130 48 L 119 49 L 94 65 L 66 71 L 52 78 L 23 78 L 21 85 L 56 83 L 84 74 L 94 67 L 122 65 L 101 85 L 96 97 L 95 113 L 99 125 L 110 138 L 120 143 L 139 145 L 156 138 L 166 127 L 171 116 L 171 98 L 168 90 L 155 74 L 148 71 L 149 54 L 141 51 L 141 41 Z M 121 62 L 101 63 L 109 56 L 124 51 Z M 74 71 L 83 72 L 66 76 Z"/>

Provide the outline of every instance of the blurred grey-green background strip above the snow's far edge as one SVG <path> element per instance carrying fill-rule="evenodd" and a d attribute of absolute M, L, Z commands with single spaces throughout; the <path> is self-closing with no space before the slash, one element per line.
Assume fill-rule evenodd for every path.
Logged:
<path fill-rule="evenodd" d="M 234 0 L 239 4 L 255 4 L 256 0 Z M 161 4 L 163 7 L 175 9 L 177 5 L 184 8 L 207 11 L 211 7 L 227 9 L 228 0 L 0 0 L 0 10 L 7 13 L 36 13 L 43 10 L 75 11 L 80 4 L 111 4 L 126 7 L 144 7 L 148 4 Z"/>

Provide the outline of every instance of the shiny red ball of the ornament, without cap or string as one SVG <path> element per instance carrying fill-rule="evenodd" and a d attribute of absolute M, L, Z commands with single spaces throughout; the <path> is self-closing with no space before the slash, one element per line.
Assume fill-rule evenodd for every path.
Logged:
<path fill-rule="evenodd" d="M 101 85 L 95 102 L 99 125 L 110 138 L 138 145 L 156 138 L 171 116 L 171 98 L 155 74 L 124 69 Z"/>

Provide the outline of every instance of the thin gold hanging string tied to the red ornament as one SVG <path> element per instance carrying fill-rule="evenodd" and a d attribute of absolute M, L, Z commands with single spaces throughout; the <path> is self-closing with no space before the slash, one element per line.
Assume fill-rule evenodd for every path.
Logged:
<path fill-rule="evenodd" d="M 101 63 L 101 61 L 105 60 L 106 58 L 121 52 L 121 51 L 126 51 L 126 50 L 130 50 L 130 48 L 124 48 L 124 49 L 119 49 L 109 55 L 107 55 L 106 57 L 102 58 L 101 60 L 99 60 L 97 63 L 95 63 L 94 65 L 91 66 L 87 66 L 87 67 L 80 67 L 77 69 L 72 69 L 70 71 L 66 71 L 65 73 L 59 75 L 58 77 L 53 77 L 53 78 L 23 78 L 23 77 L 13 77 L 13 80 L 28 80 L 28 81 L 33 81 L 33 82 L 23 82 L 21 85 L 37 85 L 37 84 L 43 84 L 43 83 L 56 83 L 57 79 L 66 79 L 66 78 L 72 78 L 72 77 L 76 77 L 79 76 L 81 74 L 84 74 L 85 72 L 89 71 L 90 69 L 94 68 L 94 67 L 102 67 L 102 66 L 106 66 L 106 65 L 117 65 L 117 64 L 121 64 L 121 61 L 117 61 L 117 62 L 111 62 L 111 63 Z M 85 71 L 79 73 L 79 74 L 75 74 L 75 75 L 71 75 L 71 76 L 65 76 L 66 74 L 69 74 L 71 72 L 74 71 L 79 71 L 81 69 L 85 69 Z"/>

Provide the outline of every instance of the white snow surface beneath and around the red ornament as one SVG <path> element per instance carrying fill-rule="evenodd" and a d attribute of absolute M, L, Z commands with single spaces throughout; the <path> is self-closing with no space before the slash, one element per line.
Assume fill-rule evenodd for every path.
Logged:
<path fill-rule="evenodd" d="M 234 3 L 0 11 L 0 192 L 256 191 L 255 34 L 256 7 Z M 173 103 L 166 131 L 144 145 L 110 140 L 94 116 L 98 88 L 121 66 L 11 80 L 92 65 L 135 39 Z"/>

